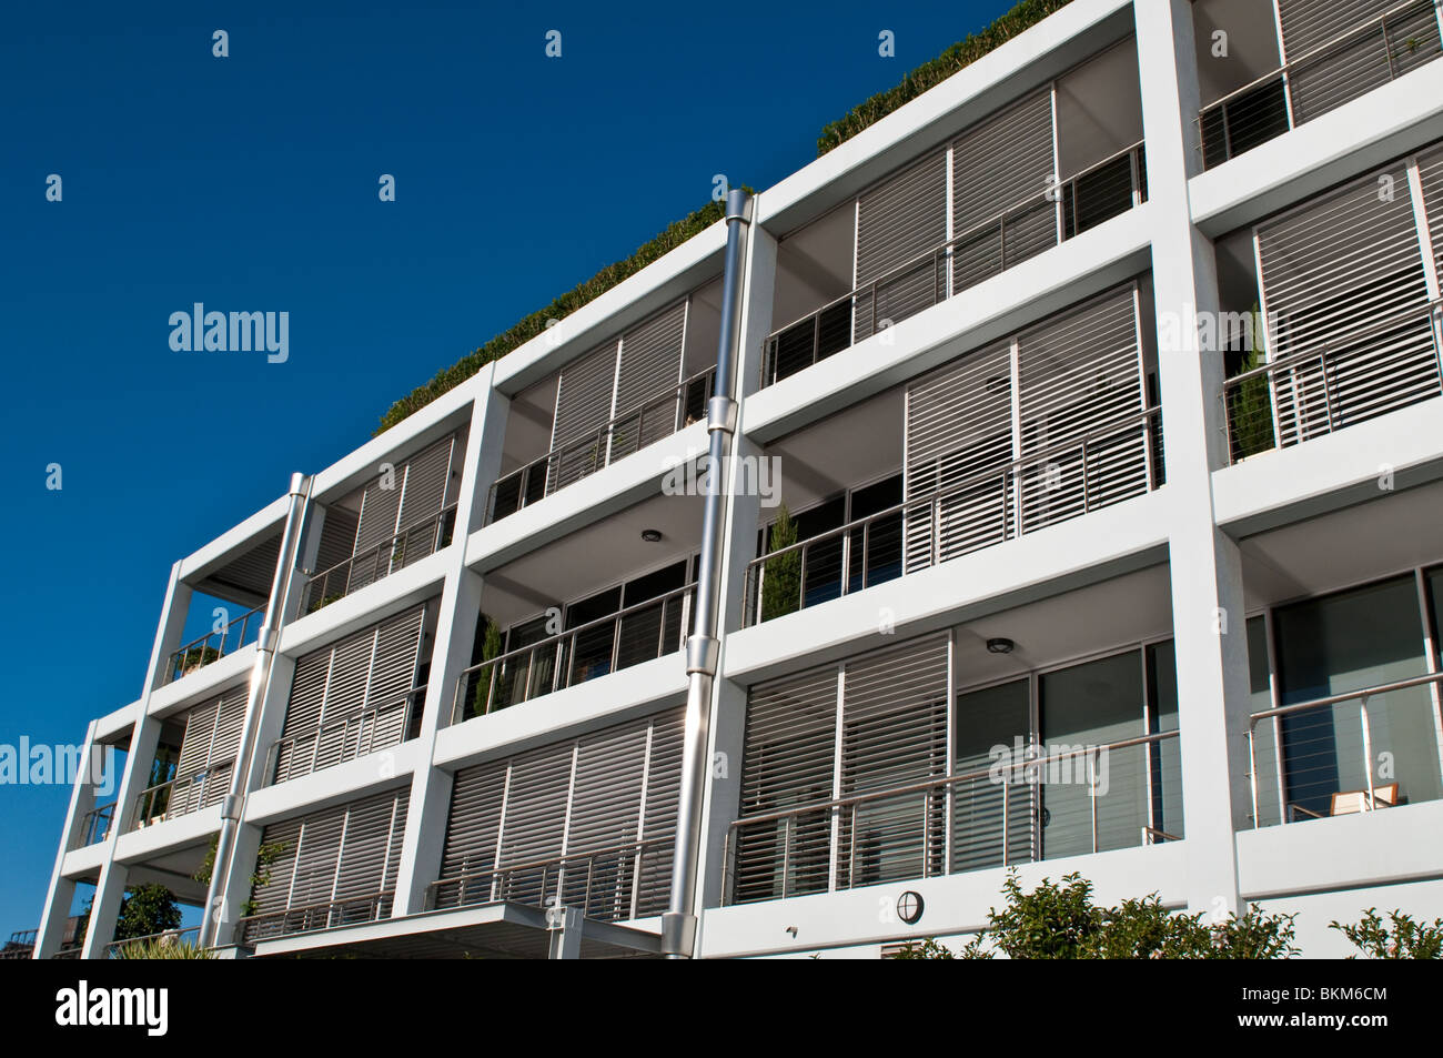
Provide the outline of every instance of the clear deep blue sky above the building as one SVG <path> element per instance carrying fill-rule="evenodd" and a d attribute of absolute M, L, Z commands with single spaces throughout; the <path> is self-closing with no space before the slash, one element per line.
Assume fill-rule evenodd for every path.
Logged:
<path fill-rule="evenodd" d="M 10 4 L 0 743 L 74 743 L 136 700 L 170 564 L 293 471 L 714 173 L 795 172 L 827 121 L 1012 3 Z M 173 352 L 193 302 L 287 310 L 290 359 Z M 0 787 L 0 941 L 38 924 L 68 798 Z"/>

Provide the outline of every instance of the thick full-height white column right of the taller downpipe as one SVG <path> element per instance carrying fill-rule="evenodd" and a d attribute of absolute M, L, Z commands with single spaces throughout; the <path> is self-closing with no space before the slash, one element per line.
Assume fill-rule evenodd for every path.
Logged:
<path fill-rule="evenodd" d="M 1201 169 L 1192 6 L 1149 0 L 1134 14 L 1170 498 L 1186 895 L 1193 911 L 1237 911 L 1234 831 L 1251 804 L 1247 622 L 1238 547 L 1218 531 L 1212 510 L 1212 471 L 1228 462 L 1222 354 L 1201 348 L 1193 316 L 1216 312 L 1218 279 L 1188 202 L 1188 178 Z"/>

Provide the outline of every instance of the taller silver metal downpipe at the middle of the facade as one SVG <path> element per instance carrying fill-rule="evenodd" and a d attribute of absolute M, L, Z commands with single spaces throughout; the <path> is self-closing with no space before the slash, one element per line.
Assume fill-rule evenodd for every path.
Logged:
<path fill-rule="evenodd" d="M 722 611 L 722 543 L 727 501 L 727 466 L 736 434 L 736 364 L 742 341 L 742 270 L 746 261 L 752 196 L 732 191 L 726 198 L 726 271 L 722 281 L 722 333 L 717 374 L 707 404 L 710 459 L 706 514 L 701 523 L 701 566 L 697 605 L 687 638 L 687 726 L 681 751 L 681 795 L 677 843 L 671 857 L 671 902 L 661 917 L 661 951 L 667 958 L 691 958 L 697 938 L 696 883 L 701 854 L 701 798 L 707 779 L 711 730 L 711 688 L 717 674 L 717 622 Z"/>

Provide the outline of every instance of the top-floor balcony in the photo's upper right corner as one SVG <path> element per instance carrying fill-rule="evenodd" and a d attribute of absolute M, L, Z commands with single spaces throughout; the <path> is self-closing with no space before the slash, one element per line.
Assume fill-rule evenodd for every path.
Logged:
<path fill-rule="evenodd" d="M 1443 52 L 1436 0 L 1372 0 L 1343 19 L 1328 7 L 1320 0 L 1289 6 L 1281 35 L 1290 58 L 1278 64 L 1283 45 L 1271 9 L 1250 0 L 1193 4 L 1199 81 L 1208 100 L 1198 115 L 1203 167 L 1253 150 Z M 1369 12 L 1377 13 L 1368 17 Z M 1231 56 L 1212 53 L 1219 32 L 1235 49 Z"/>

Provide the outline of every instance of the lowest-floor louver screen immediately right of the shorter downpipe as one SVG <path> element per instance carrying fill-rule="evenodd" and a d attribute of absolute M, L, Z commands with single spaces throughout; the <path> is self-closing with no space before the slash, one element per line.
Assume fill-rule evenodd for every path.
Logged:
<path fill-rule="evenodd" d="M 251 893 L 254 943 L 303 930 L 384 918 L 391 911 L 405 834 L 408 790 L 274 823 L 263 844 L 280 846 L 267 880 Z"/>

